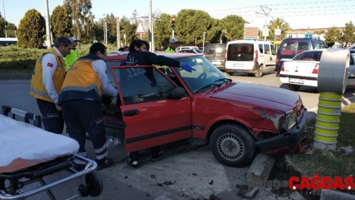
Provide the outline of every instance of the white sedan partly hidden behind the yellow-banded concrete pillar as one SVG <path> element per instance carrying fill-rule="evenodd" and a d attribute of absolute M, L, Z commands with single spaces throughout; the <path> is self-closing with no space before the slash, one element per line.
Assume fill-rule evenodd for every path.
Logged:
<path fill-rule="evenodd" d="M 286 83 L 288 88 L 293 91 L 297 91 L 302 85 L 317 87 L 319 61 L 325 50 L 327 49 L 304 51 L 295 56 L 291 61 L 284 62 L 280 72 L 281 83 Z M 346 49 L 337 50 L 348 51 Z M 352 85 L 355 84 L 355 50 L 349 51 L 350 63 L 347 84 Z"/>

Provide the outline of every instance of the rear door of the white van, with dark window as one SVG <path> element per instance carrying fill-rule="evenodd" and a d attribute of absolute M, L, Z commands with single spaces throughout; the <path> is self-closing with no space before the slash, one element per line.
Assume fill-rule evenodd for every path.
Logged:
<path fill-rule="evenodd" d="M 254 68 L 258 53 L 254 51 L 253 43 L 231 43 L 227 48 L 226 69 L 244 71 Z"/>

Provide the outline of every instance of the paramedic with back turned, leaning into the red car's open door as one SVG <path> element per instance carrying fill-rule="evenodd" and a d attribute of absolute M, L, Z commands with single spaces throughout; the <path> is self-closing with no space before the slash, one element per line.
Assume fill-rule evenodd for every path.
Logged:
<path fill-rule="evenodd" d="M 65 77 L 59 102 L 69 136 L 78 141 L 78 154 L 87 156 L 85 150 L 86 133 L 89 134 L 96 154 L 97 169 L 112 165 L 106 149 L 105 126 L 102 113 L 102 94 L 117 96 L 109 82 L 106 69 L 106 47 L 94 43 L 87 56 L 79 58 Z M 85 164 L 74 161 L 75 168 L 81 170 Z"/>

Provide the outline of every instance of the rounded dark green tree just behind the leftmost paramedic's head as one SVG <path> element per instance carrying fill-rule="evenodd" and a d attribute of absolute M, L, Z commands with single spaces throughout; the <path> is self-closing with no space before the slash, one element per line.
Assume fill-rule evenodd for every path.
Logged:
<path fill-rule="evenodd" d="M 55 40 L 57 37 L 60 36 L 71 37 L 72 27 L 72 19 L 70 18 L 70 16 L 65 12 L 65 10 L 61 6 L 57 6 L 52 12 L 51 16 L 51 31 L 53 39 Z"/>

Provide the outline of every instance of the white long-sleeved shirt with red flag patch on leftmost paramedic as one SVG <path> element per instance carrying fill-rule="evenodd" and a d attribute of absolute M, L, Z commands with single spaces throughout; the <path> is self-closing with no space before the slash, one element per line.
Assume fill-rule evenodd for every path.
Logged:
<path fill-rule="evenodd" d="M 53 48 L 56 50 L 58 56 L 63 59 L 63 55 L 59 52 L 59 50 L 56 47 Z M 59 94 L 57 93 L 53 83 L 53 75 L 57 69 L 57 65 L 57 59 L 54 54 L 48 53 L 42 57 L 42 83 L 54 103 L 58 103 L 59 98 Z"/>

